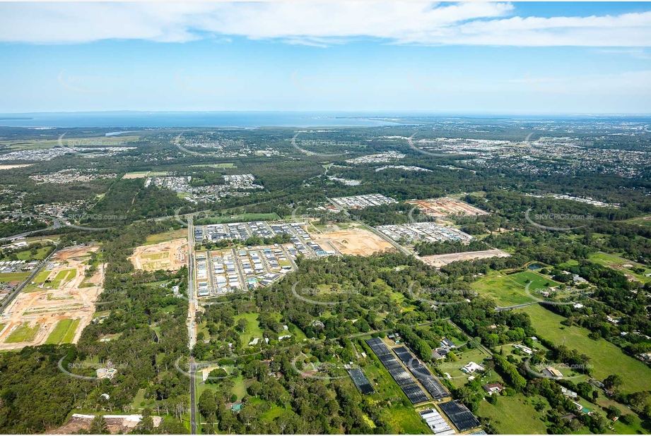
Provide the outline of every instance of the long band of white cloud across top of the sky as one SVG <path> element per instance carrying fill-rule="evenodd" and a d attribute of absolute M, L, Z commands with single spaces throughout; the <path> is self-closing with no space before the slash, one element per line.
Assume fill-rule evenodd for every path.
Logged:
<path fill-rule="evenodd" d="M 324 46 L 397 44 L 648 47 L 651 12 L 511 16 L 510 3 L 1 3 L 0 42 L 188 42 L 207 35 Z"/>

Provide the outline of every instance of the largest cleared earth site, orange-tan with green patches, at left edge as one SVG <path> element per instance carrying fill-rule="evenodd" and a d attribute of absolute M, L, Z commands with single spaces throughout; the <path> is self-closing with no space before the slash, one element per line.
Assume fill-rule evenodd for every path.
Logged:
<path fill-rule="evenodd" d="M 98 247 L 74 247 L 54 255 L 52 262 L 56 266 L 47 277 L 51 282 L 36 291 L 21 292 L 0 315 L 0 323 L 5 325 L 0 332 L 0 350 L 43 344 L 61 320 L 81 320 L 72 342 L 79 340 L 93 318 L 95 301 L 102 293 L 104 265 L 81 286 L 88 269 L 84 262 L 90 252 L 97 250 Z"/>

